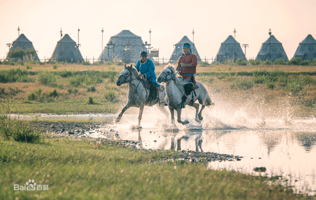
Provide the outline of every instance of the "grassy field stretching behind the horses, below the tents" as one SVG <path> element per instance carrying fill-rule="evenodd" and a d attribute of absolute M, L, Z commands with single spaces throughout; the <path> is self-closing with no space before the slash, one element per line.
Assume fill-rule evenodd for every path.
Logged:
<path fill-rule="evenodd" d="M 26 65 L 0 65 L 0 100 L 10 100 L 11 113 L 117 113 L 127 102 L 128 86 L 115 84 L 123 66 Z M 156 66 L 157 76 L 163 68 Z M 316 66 L 198 65 L 196 80 L 220 109 L 262 107 L 262 115 L 273 117 L 316 113 Z"/>

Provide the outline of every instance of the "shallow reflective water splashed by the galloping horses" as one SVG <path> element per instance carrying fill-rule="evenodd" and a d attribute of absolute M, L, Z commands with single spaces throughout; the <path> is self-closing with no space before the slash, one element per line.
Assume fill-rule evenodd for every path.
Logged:
<path fill-rule="evenodd" d="M 147 110 L 148 111 L 148 110 Z M 239 161 L 205 163 L 209 169 L 229 169 L 255 175 L 277 175 L 288 179 L 296 193 L 316 194 L 316 120 L 315 118 L 248 118 L 242 110 L 224 116 L 205 112 L 201 124 L 190 112 L 183 118 L 190 125 L 176 123 L 159 114 L 158 109 L 145 112 L 137 126 L 136 114 L 124 114 L 120 123 L 80 136 L 139 141 L 145 149 L 172 149 L 214 152 L 243 157 Z M 153 116 L 152 113 L 155 113 Z M 216 117 L 214 117 L 216 116 Z M 13 117 L 13 116 L 12 116 Z M 40 115 L 38 119 L 109 120 L 116 115 Z M 23 117 L 20 116 L 20 119 Z M 34 119 L 34 116 L 24 119 Z M 65 119 L 64 119 L 65 118 Z M 254 172 L 265 167 L 266 172 Z"/>

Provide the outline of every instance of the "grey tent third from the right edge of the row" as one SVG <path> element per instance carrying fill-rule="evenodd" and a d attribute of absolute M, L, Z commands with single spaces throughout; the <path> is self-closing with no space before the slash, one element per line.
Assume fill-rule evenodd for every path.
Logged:
<path fill-rule="evenodd" d="M 246 60 L 240 44 L 233 38 L 233 36 L 229 36 L 221 43 L 221 47 L 216 54 L 215 60 L 217 62 L 224 62 L 226 60 L 232 60 L 233 58 L 234 62 L 237 59 Z"/>

